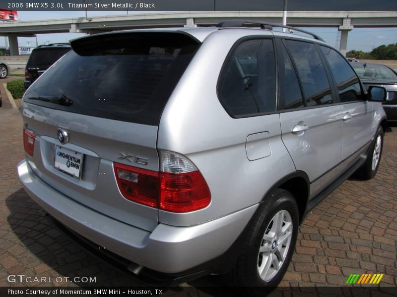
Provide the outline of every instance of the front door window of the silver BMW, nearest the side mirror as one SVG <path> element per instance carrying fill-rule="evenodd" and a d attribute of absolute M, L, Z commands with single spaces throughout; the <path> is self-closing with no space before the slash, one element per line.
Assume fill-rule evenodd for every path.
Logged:
<path fill-rule="evenodd" d="M 348 62 L 336 51 L 320 46 L 330 64 L 341 102 L 361 100 L 361 88 L 357 75 Z"/>

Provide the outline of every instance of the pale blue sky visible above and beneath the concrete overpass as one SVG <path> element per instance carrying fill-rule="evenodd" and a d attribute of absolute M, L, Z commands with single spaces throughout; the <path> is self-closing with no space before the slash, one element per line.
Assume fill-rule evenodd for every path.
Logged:
<path fill-rule="evenodd" d="M 153 12 L 153 11 L 151 11 Z M 136 12 L 129 12 L 130 14 Z M 139 11 L 138 13 L 142 13 Z M 88 11 L 90 16 L 127 14 L 127 11 Z M 84 17 L 85 11 L 18 11 L 18 20 L 31 21 L 43 19 L 59 19 L 70 17 Z M 288 24 L 288 18 L 287 18 Z M 329 45 L 338 48 L 337 38 L 340 32 L 337 28 L 304 28 L 307 31 L 313 32 L 322 37 Z M 67 42 L 70 39 L 78 38 L 84 34 L 79 33 L 58 33 L 58 34 L 38 34 L 38 44 Z M 389 45 L 397 43 L 397 28 L 354 28 L 348 34 L 347 50 L 363 50 L 371 51 L 372 49 L 381 45 Z M 35 38 L 18 38 L 20 47 L 36 45 Z M 4 38 L 0 38 L 0 46 L 5 45 Z"/>

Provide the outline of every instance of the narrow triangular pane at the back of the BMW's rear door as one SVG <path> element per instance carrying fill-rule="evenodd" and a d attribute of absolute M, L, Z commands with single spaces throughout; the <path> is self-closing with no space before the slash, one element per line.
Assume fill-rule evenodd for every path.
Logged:
<path fill-rule="evenodd" d="M 291 58 L 284 45 L 282 46 L 282 54 L 284 60 L 284 73 L 280 71 L 280 83 L 284 84 L 283 88 L 281 87 L 284 92 L 281 92 L 280 95 L 283 95 L 284 105 L 280 106 L 280 109 L 303 107 L 303 97 L 298 78 L 296 77 Z"/>

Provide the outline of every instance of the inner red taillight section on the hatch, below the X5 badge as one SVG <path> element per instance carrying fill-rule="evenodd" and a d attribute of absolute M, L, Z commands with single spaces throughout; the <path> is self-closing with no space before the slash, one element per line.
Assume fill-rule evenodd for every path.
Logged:
<path fill-rule="evenodd" d="M 121 194 L 134 202 L 158 206 L 158 172 L 127 166 L 113 165 Z"/>

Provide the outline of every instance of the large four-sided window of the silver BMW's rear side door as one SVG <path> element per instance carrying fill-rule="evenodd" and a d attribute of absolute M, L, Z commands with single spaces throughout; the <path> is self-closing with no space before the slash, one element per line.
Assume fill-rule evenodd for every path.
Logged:
<path fill-rule="evenodd" d="M 331 87 L 319 53 L 312 43 L 285 40 L 296 65 L 307 106 L 332 103 Z"/>

